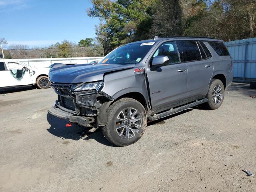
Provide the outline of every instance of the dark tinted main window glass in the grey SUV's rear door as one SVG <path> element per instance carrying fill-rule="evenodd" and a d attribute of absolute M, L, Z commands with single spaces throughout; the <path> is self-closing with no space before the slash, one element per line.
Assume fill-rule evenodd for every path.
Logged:
<path fill-rule="evenodd" d="M 201 60 L 201 54 L 196 41 L 177 41 L 182 62 Z"/>

